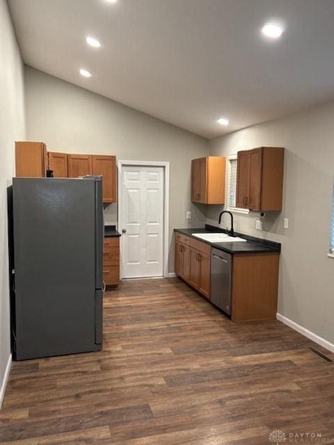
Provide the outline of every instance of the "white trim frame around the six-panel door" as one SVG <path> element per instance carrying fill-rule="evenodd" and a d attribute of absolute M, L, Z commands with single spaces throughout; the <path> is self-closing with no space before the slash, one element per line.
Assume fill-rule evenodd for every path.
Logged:
<path fill-rule="evenodd" d="M 169 162 L 164 161 L 117 161 L 118 170 L 118 230 L 122 232 L 122 167 L 162 167 L 164 171 L 164 277 L 168 277 L 168 243 L 169 243 Z M 120 236 L 120 254 L 122 254 L 122 236 Z M 122 279 L 122 264 L 120 266 L 120 279 Z"/>

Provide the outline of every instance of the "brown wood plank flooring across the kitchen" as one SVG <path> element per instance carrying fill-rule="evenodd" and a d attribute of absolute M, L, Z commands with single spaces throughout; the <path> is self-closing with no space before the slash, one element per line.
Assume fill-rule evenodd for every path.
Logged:
<path fill-rule="evenodd" d="M 177 278 L 123 282 L 101 353 L 13 364 L 0 443 L 334 444 L 334 364 L 310 346 L 334 358 L 278 321 L 232 323 Z"/>

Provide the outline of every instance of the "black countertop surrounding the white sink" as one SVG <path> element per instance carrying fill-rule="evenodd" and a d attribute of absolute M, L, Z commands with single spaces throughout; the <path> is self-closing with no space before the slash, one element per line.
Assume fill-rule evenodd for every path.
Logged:
<path fill-rule="evenodd" d="M 280 243 L 267 241 L 262 238 L 255 238 L 255 236 L 240 234 L 239 232 L 234 232 L 234 235 L 239 236 L 240 238 L 245 238 L 247 240 L 246 242 L 237 241 L 235 243 L 210 243 L 209 241 L 205 241 L 204 239 L 192 236 L 192 234 L 206 234 L 210 232 L 227 233 L 226 230 L 218 229 L 218 227 L 214 227 L 212 225 L 205 225 L 205 229 L 174 229 L 174 231 L 180 234 L 191 236 L 191 238 L 196 239 L 197 241 L 202 241 L 202 243 L 209 244 L 216 249 L 223 250 L 224 252 L 228 252 L 230 254 L 280 252 Z"/>

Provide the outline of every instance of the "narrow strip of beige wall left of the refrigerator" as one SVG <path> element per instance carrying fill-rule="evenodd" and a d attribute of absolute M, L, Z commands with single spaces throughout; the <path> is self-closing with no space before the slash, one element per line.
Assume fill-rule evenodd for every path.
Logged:
<path fill-rule="evenodd" d="M 24 138 L 22 60 L 7 3 L 0 0 L 0 389 L 10 355 L 7 187 L 14 167 L 15 139 Z M 1 394 L 0 394 L 1 396 Z M 1 405 L 1 400 L 0 400 Z"/>

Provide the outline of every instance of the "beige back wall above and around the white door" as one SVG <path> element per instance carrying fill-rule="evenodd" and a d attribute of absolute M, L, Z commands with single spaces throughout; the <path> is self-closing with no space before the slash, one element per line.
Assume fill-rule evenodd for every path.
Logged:
<path fill-rule="evenodd" d="M 25 88 L 28 140 L 42 140 L 55 152 L 169 161 L 170 243 L 175 227 L 187 227 L 186 211 L 192 211 L 193 224 L 205 222 L 202 209 L 190 202 L 191 159 L 207 155 L 205 138 L 31 67 L 25 68 Z M 116 216 L 116 206 L 109 206 L 106 222 L 113 223 Z M 170 252 L 169 270 L 173 271 L 171 244 Z"/>

